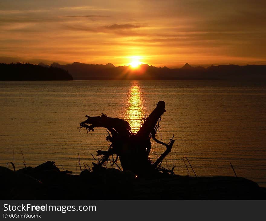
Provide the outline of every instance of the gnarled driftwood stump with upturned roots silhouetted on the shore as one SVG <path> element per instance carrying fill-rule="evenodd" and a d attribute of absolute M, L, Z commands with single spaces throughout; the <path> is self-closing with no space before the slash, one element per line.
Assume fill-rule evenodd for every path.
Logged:
<path fill-rule="evenodd" d="M 168 144 L 157 140 L 155 137 L 160 127 L 161 116 L 165 112 L 164 108 L 165 102 L 159 101 L 151 114 L 143 119 L 143 124 L 136 134 L 131 132 L 131 127 L 125 120 L 107 117 L 105 114 L 102 114 L 100 117 L 89 117 L 86 115 L 87 120 L 81 122 L 79 128 L 94 131 L 95 127 L 104 127 L 108 133 L 106 140 L 111 142 L 108 150 L 97 151 L 97 156 L 101 156 L 101 158 L 97 164 L 93 163 L 93 165 L 95 167 L 102 166 L 108 161 L 111 162 L 111 160 L 112 165 L 117 165 L 119 157 L 123 170 L 131 170 L 138 176 L 147 176 L 158 171 L 173 174 L 174 167 L 169 170 L 162 167 L 161 163 L 172 149 L 174 136 Z M 149 158 L 151 138 L 166 147 L 164 153 L 155 162 L 152 162 Z"/>

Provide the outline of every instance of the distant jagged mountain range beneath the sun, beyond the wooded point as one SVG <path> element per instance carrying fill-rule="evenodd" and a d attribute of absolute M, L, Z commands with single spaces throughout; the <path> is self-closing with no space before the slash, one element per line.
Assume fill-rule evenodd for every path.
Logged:
<path fill-rule="evenodd" d="M 108 64 L 73 64 L 60 65 L 53 63 L 51 67 L 68 71 L 74 80 L 259 80 L 266 78 L 266 65 L 218 65 L 204 68 L 192 67 L 186 63 L 182 68 L 157 68 L 141 64 L 139 68 Z"/>

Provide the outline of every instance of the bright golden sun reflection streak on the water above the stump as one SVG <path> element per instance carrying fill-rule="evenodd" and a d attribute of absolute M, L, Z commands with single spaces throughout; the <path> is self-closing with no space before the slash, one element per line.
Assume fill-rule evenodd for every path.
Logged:
<path fill-rule="evenodd" d="M 139 130 L 142 117 L 144 117 L 142 93 L 138 81 L 133 81 L 128 93 L 128 106 L 125 116 L 125 120 L 130 124 L 133 133 Z"/>

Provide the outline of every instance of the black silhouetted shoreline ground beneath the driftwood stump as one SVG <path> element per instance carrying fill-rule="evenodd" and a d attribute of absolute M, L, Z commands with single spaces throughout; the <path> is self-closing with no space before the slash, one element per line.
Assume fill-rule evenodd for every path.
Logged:
<path fill-rule="evenodd" d="M 0 167 L 1 199 L 266 199 L 266 188 L 242 177 L 159 174 L 136 178 L 130 171 L 102 168 L 79 175 L 47 161 L 16 172 Z"/>

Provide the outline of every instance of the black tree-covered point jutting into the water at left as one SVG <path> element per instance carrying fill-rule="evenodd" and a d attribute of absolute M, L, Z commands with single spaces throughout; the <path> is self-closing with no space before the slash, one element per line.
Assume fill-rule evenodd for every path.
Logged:
<path fill-rule="evenodd" d="M 68 71 L 29 63 L 0 64 L 1 81 L 72 81 Z"/>

